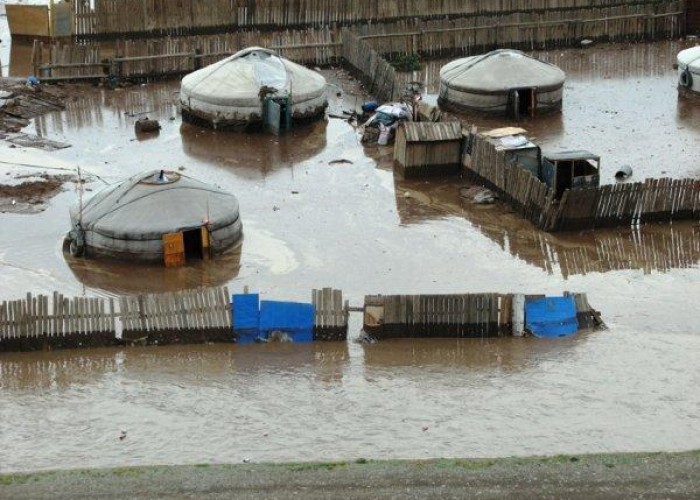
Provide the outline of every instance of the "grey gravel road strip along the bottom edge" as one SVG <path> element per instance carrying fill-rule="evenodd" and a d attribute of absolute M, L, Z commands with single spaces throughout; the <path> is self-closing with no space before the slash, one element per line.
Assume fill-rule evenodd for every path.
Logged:
<path fill-rule="evenodd" d="M 134 467 L 0 475 L 0 498 L 697 499 L 700 451 Z"/>

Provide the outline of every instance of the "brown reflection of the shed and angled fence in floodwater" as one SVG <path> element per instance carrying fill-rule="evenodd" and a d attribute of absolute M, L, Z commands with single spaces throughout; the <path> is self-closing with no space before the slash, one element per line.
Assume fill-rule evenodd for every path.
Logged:
<path fill-rule="evenodd" d="M 668 271 L 696 267 L 700 261 L 700 228 L 693 222 L 550 234 L 539 231 L 503 203 L 477 205 L 462 198 L 461 181 L 456 178 L 395 178 L 395 184 L 402 223 L 462 216 L 504 251 L 564 278 L 622 269 Z"/>

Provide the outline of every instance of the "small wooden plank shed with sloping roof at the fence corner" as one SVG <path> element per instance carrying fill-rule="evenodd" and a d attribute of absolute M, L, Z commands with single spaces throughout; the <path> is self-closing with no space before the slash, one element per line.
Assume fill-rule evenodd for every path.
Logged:
<path fill-rule="evenodd" d="M 394 165 L 404 178 L 458 174 L 462 160 L 460 122 L 407 122 L 396 132 Z"/>

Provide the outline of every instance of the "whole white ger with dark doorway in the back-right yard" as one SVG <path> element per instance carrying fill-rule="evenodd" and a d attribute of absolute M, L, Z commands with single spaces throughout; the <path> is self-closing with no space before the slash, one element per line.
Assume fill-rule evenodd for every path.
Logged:
<path fill-rule="evenodd" d="M 519 50 L 499 49 L 440 69 L 438 102 L 447 109 L 519 118 L 561 109 L 566 74 Z"/>

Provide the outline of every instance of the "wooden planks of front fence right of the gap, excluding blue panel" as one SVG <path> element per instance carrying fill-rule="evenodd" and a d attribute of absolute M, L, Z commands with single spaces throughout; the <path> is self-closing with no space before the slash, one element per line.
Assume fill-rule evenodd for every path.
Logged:
<path fill-rule="evenodd" d="M 586 294 L 572 294 L 581 328 L 602 324 Z M 365 332 L 374 338 L 481 338 L 513 335 L 515 308 L 524 298 L 544 295 L 476 293 L 451 295 L 368 295 L 365 297 Z M 515 307 L 514 307 L 515 305 Z"/>

